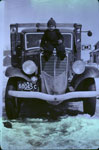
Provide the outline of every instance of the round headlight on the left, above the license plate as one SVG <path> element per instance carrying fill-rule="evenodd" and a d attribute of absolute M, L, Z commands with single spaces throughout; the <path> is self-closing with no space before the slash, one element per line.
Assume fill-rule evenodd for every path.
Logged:
<path fill-rule="evenodd" d="M 31 75 L 37 71 L 37 66 L 32 60 L 27 60 L 23 63 L 22 69 L 24 73 Z"/>

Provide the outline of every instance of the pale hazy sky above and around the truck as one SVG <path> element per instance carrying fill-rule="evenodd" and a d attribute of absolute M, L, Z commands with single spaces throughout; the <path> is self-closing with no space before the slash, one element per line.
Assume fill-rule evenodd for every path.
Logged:
<path fill-rule="evenodd" d="M 80 23 L 82 30 L 91 30 L 92 37 L 82 34 L 83 44 L 94 45 L 99 40 L 98 0 L 3 0 L 4 49 L 10 49 L 11 23 L 56 22 Z"/>

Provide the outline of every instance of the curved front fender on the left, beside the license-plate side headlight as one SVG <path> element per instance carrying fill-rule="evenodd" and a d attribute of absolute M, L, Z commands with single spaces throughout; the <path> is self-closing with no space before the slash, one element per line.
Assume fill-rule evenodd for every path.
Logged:
<path fill-rule="evenodd" d="M 20 77 L 20 78 L 23 78 L 27 81 L 30 81 L 30 78 L 27 77 L 25 74 L 23 74 L 21 69 L 19 69 L 19 68 L 8 67 L 6 69 L 5 76 L 7 76 L 7 77 Z"/>

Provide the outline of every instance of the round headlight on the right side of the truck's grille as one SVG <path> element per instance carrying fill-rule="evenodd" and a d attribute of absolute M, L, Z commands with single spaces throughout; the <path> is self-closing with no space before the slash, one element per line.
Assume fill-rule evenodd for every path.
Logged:
<path fill-rule="evenodd" d="M 73 63 L 72 69 L 76 74 L 82 74 L 85 71 L 85 63 L 81 60 L 77 60 Z"/>

